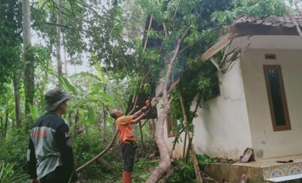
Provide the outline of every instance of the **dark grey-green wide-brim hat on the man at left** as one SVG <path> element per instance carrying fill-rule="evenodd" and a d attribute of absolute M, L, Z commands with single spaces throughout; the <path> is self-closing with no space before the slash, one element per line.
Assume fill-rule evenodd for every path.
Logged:
<path fill-rule="evenodd" d="M 61 102 L 72 99 L 71 95 L 68 95 L 63 90 L 58 88 L 49 90 L 44 97 L 46 100 L 44 109 L 47 111 L 54 110 Z"/>

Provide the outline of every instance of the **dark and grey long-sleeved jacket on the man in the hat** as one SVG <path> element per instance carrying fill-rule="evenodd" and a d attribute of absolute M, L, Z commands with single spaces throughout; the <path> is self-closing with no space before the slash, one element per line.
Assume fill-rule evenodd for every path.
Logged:
<path fill-rule="evenodd" d="M 47 112 L 41 116 L 30 130 L 27 152 L 27 171 L 30 178 L 41 178 L 63 166 L 64 177 L 68 181 L 77 181 L 74 172 L 73 153 L 67 122 L 55 113 Z"/>

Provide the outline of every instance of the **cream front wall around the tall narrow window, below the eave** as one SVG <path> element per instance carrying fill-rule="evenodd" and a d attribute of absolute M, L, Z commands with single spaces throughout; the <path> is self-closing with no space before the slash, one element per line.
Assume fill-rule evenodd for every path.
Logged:
<path fill-rule="evenodd" d="M 266 60 L 265 53 L 277 59 Z M 281 65 L 290 131 L 273 131 L 263 65 Z M 249 49 L 241 67 L 256 160 L 302 153 L 302 50 Z"/>

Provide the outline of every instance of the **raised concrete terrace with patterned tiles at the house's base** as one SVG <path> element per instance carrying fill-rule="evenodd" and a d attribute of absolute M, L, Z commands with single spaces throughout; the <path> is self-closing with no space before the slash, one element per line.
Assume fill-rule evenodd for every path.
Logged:
<path fill-rule="evenodd" d="M 291 163 L 277 163 L 278 160 L 293 160 Z M 250 182 L 302 182 L 302 154 L 261 161 L 235 164 L 212 163 L 205 167 L 205 173 L 217 181 L 239 182 L 242 174 Z"/>

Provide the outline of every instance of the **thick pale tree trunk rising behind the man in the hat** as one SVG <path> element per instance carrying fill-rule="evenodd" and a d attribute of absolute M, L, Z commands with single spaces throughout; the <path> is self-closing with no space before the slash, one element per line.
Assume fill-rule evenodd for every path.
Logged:
<path fill-rule="evenodd" d="M 29 51 L 31 46 L 31 27 L 30 27 L 30 4 L 29 0 L 22 1 L 22 27 L 23 27 L 23 53 L 24 53 L 24 86 L 25 86 L 25 114 L 27 120 L 32 121 L 28 116 L 30 113 L 29 105 L 33 104 L 34 100 L 34 63 L 32 55 Z"/>

